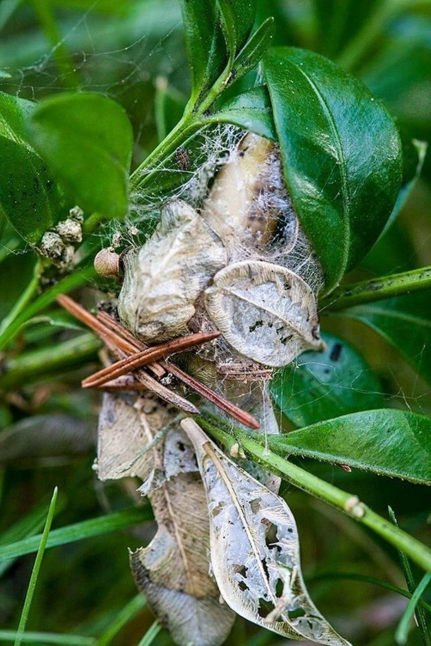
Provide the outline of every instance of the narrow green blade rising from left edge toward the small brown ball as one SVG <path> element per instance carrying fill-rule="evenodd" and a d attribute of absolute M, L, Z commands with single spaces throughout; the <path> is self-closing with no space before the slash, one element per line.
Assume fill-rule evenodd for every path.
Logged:
<path fill-rule="evenodd" d="M 0 350 L 3 350 L 10 340 L 16 337 L 19 333 L 21 326 L 23 326 L 30 318 L 34 317 L 41 309 L 50 305 L 59 294 L 67 294 L 72 289 L 80 287 L 90 278 L 96 275 L 94 267 L 85 267 L 85 269 L 75 269 L 73 274 L 66 276 L 60 280 L 54 287 L 47 289 L 39 298 L 31 302 L 19 315 L 12 321 L 12 323 L 2 333 L 0 333 Z"/>

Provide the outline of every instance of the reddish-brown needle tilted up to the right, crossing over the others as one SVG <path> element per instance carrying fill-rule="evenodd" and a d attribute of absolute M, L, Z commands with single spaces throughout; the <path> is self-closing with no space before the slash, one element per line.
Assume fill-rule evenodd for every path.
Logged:
<path fill-rule="evenodd" d="M 178 337 L 178 339 L 171 339 L 165 343 L 155 346 L 154 348 L 147 348 L 142 350 L 142 352 L 136 352 L 131 357 L 126 357 L 121 361 L 117 361 L 112 366 L 107 366 L 107 368 L 102 368 L 94 375 L 86 377 L 81 382 L 83 388 L 94 388 L 94 386 L 102 386 L 107 381 L 121 377 L 136 368 L 141 366 L 146 366 L 147 364 L 152 363 L 152 361 L 157 359 L 162 359 L 162 357 L 167 357 L 175 352 L 180 352 L 181 350 L 194 348 L 194 346 L 202 345 L 208 341 L 212 341 L 220 337 L 220 332 L 198 332 L 196 334 L 190 334 L 187 337 Z"/>

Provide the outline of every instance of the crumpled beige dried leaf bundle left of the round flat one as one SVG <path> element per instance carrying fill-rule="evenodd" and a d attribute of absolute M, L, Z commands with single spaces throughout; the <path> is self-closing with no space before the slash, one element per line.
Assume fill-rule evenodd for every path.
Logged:
<path fill-rule="evenodd" d="M 118 297 L 123 324 L 143 340 L 166 340 L 187 332 L 194 301 L 227 262 L 220 238 L 180 200 L 170 202 L 151 238 L 124 258 Z"/>

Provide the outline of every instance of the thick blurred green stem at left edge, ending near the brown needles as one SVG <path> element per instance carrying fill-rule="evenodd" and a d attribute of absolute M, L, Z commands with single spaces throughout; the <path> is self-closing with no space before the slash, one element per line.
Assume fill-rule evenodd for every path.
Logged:
<path fill-rule="evenodd" d="M 92 332 L 85 332 L 63 343 L 31 352 L 21 353 L 8 359 L 0 377 L 1 390 L 13 390 L 20 384 L 30 384 L 52 373 L 70 370 L 96 358 L 101 342 Z"/>

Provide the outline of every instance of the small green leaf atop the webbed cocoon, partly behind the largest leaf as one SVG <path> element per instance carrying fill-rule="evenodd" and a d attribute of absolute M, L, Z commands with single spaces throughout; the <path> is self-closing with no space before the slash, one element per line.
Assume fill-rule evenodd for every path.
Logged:
<path fill-rule="evenodd" d="M 238 94 L 227 101 L 209 121 L 233 123 L 262 137 L 277 140 L 268 90 L 264 85 Z"/>

